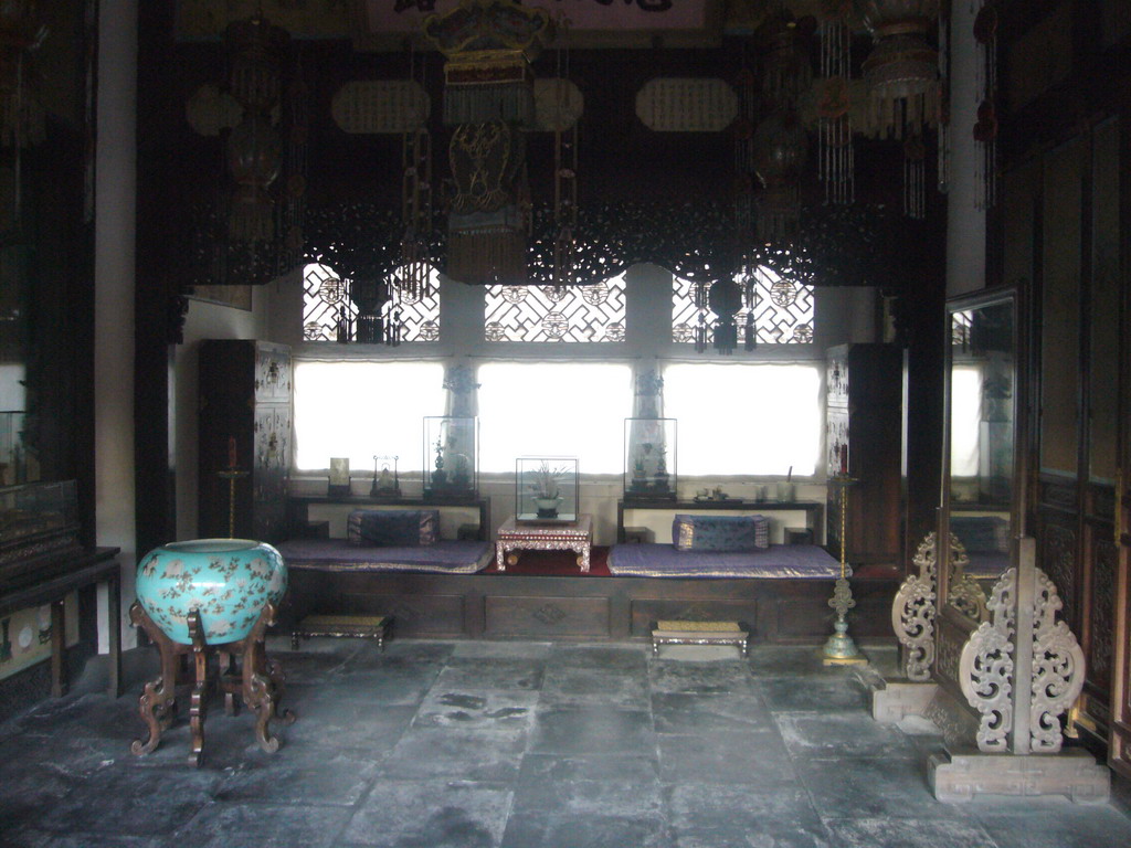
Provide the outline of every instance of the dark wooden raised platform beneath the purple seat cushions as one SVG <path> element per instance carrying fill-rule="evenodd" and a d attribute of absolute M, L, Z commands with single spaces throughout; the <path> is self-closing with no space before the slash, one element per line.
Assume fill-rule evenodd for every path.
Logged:
<path fill-rule="evenodd" d="M 751 642 L 820 644 L 831 632 L 831 579 L 612 577 L 607 548 L 577 571 L 570 552 L 524 557 L 504 573 L 356 573 L 292 568 L 283 630 L 309 614 L 390 615 L 405 638 L 620 640 L 651 638 L 659 620 L 739 622 Z M 561 560 L 559 562 L 558 560 Z M 537 570 L 539 573 L 533 573 Z M 898 576 L 853 578 L 853 637 L 895 640 Z"/>

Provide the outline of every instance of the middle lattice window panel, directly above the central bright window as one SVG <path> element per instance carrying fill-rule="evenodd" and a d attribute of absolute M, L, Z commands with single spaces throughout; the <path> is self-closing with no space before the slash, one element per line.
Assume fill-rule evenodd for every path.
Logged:
<path fill-rule="evenodd" d="M 623 341 L 624 277 L 592 286 L 487 286 L 487 341 Z"/>

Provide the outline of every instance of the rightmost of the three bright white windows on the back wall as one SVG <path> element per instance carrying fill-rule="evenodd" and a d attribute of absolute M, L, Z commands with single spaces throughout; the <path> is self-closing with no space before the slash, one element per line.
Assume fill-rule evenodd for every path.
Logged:
<path fill-rule="evenodd" d="M 820 396 L 817 365 L 668 365 L 664 415 L 679 422 L 680 475 L 815 474 Z"/>

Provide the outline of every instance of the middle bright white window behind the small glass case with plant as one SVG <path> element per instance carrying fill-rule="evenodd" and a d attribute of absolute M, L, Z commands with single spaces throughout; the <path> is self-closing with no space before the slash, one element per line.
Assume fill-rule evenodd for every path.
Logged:
<path fill-rule="evenodd" d="M 632 369 L 607 363 L 480 365 L 480 470 L 517 457 L 578 458 L 581 474 L 620 474 Z M 682 460 L 681 460 L 682 461 Z"/>

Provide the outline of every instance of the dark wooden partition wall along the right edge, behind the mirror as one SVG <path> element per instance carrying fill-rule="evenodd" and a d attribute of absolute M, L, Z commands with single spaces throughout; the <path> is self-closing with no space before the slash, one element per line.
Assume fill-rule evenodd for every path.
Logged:
<path fill-rule="evenodd" d="M 1027 531 L 1087 658 L 1070 722 L 1131 775 L 1128 34 L 1086 5 L 1004 6 L 991 257 L 1000 282 L 1028 295 Z M 1065 32 L 1051 26 L 1057 16 Z M 1038 84 L 1024 76 L 1024 57 L 1041 40 Z"/>

